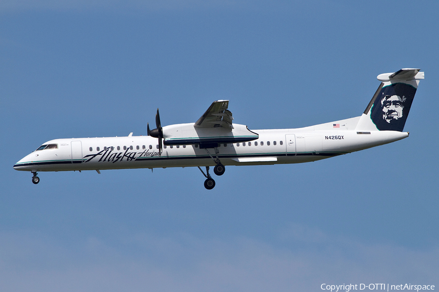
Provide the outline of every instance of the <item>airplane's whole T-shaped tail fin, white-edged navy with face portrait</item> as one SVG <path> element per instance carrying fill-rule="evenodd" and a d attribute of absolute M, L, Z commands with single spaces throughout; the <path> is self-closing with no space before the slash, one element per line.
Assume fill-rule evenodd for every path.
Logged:
<path fill-rule="evenodd" d="M 378 75 L 382 83 L 361 115 L 356 129 L 402 132 L 419 80 L 424 79 L 424 73 L 419 70 L 406 68 Z"/>

